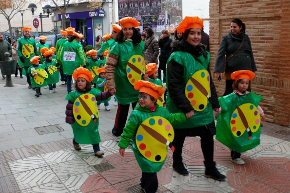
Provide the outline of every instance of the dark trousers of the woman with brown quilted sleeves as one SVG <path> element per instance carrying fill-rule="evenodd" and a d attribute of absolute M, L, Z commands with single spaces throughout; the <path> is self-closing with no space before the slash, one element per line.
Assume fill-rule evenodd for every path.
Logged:
<path fill-rule="evenodd" d="M 137 105 L 137 101 L 131 104 L 134 110 L 135 106 Z M 130 104 L 121 105 L 118 103 L 118 109 L 117 109 L 116 118 L 115 118 L 115 125 L 114 125 L 114 128 L 112 129 L 112 133 L 116 137 L 122 135 L 123 133 L 123 129 L 125 127 L 127 117 L 128 117 L 129 107 L 130 107 Z"/>

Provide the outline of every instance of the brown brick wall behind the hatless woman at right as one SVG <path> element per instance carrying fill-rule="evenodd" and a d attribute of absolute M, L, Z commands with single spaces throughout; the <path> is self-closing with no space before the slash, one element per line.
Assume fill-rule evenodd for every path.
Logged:
<path fill-rule="evenodd" d="M 290 0 L 211 0 L 211 69 L 233 18 L 246 24 L 257 66 L 251 89 L 264 97 L 267 121 L 290 126 Z M 215 82 L 218 95 L 225 82 Z"/>

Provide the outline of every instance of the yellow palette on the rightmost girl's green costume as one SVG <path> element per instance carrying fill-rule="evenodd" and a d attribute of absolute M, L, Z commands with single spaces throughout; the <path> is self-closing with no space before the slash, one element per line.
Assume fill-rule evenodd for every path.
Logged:
<path fill-rule="evenodd" d="M 251 133 L 255 133 L 260 128 L 261 116 L 258 108 L 246 103 L 233 111 L 231 117 L 231 131 L 235 137 L 240 137 L 247 131 L 249 140 L 251 140 Z"/>

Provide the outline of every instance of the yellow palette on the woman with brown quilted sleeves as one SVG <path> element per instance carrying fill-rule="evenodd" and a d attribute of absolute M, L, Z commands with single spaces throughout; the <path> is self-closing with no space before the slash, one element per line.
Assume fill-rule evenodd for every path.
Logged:
<path fill-rule="evenodd" d="M 145 60 L 141 55 L 133 55 L 127 62 L 126 66 L 127 78 L 134 86 L 135 82 L 141 80 L 145 74 Z"/>

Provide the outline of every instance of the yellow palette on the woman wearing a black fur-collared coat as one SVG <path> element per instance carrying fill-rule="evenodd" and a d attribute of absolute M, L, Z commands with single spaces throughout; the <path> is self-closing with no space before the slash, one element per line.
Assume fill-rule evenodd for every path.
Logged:
<path fill-rule="evenodd" d="M 203 111 L 207 107 L 211 96 L 210 74 L 207 70 L 198 70 L 190 77 L 185 86 L 185 95 L 194 110 Z"/>

